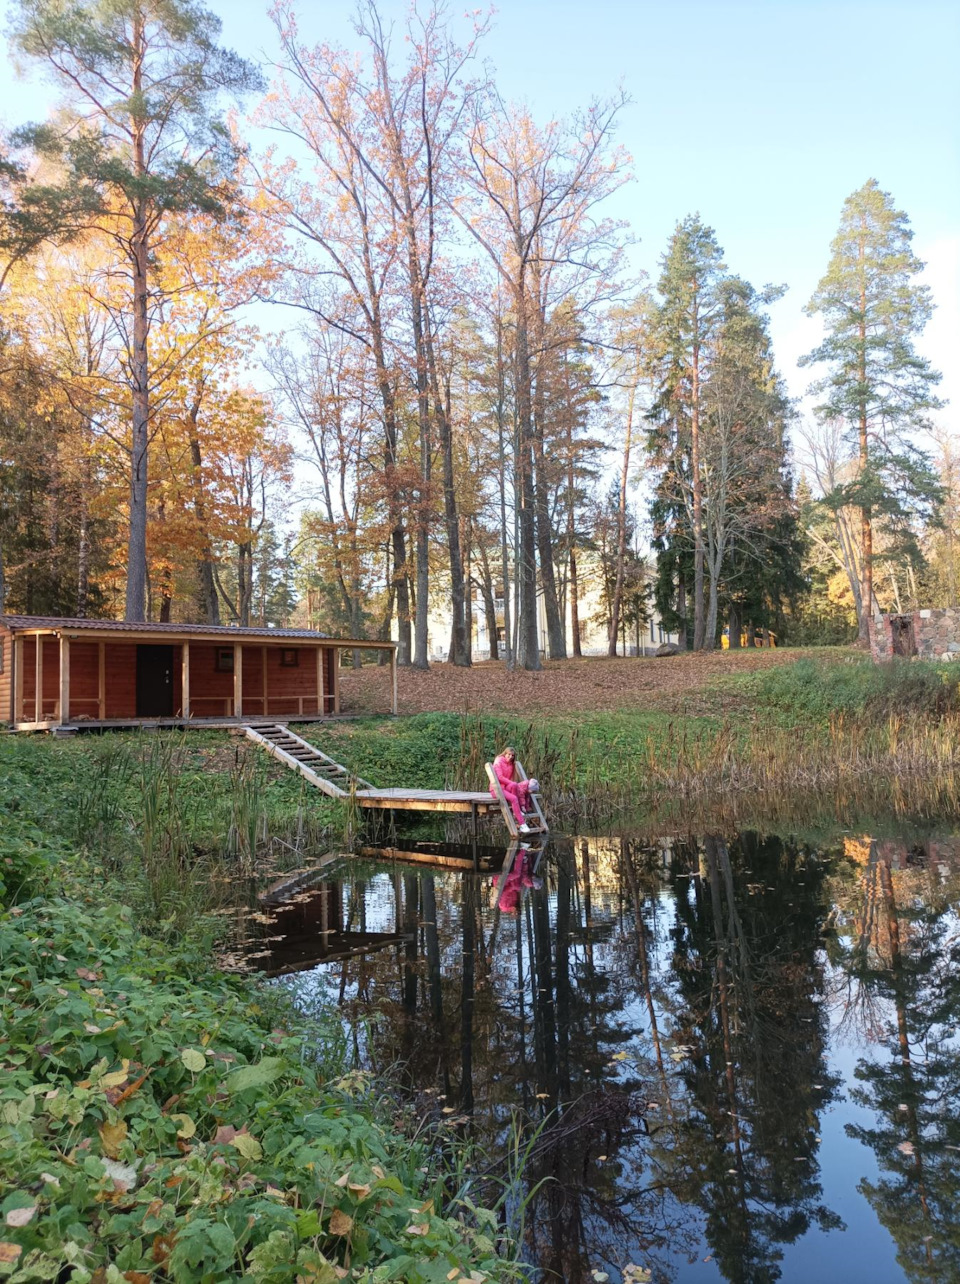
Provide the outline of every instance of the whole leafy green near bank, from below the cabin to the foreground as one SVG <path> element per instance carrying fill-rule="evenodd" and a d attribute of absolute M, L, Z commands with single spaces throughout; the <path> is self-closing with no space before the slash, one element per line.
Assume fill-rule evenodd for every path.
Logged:
<path fill-rule="evenodd" d="M 449 1129 L 212 964 L 253 770 L 222 747 L 0 740 L 0 1279 L 512 1278 Z"/>

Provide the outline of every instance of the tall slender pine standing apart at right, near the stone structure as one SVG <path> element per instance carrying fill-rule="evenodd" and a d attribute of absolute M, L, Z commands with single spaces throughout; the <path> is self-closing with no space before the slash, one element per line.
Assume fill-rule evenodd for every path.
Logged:
<path fill-rule="evenodd" d="M 857 462 L 853 480 L 825 499 L 860 511 L 861 642 L 874 602 L 874 520 L 904 528 L 939 502 L 930 462 L 910 440 L 941 404 L 933 393 L 939 374 L 914 348 L 933 304 L 914 280 L 923 263 L 911 240 L 907 216 L 870 178 L 843 203 L 830 262 L 807 304 L 827 330 L 801 362 L 828 367 L 811 388 L 824 398 L 816 413 L 843 424 Z"/>

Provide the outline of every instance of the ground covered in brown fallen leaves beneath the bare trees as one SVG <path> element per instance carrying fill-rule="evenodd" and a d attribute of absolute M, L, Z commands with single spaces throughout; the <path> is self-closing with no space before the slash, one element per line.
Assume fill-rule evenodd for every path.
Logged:
<path fill-rule="evenodd" d="M 848 647 L 796 647 L 712 651 L 698 655 L 583 660 L 548 660 L 538 673 L 508 672 L 484 661 L 471 669 L 434 664 L 427 670 L 400 669 L 400 714 L 503 713 L 519 716 L 556 713 L 613 713 L 647 710 L 669 714 L 723 714 L 738 704 L 724 679 L 818 660 L 856 656 Z M 340 697 L 344 713 L 380 713 L 390 706 L 386 666 L 343 669 Z"/>

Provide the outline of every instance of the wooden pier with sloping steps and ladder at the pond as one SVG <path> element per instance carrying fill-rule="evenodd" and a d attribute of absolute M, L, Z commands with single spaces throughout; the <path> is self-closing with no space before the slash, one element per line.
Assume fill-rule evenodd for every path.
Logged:
<path fill-rule="evenodd" d="M 348 770 L 341 763 L 321 752 L 316 745 L 311 745 L 309 741 L 303 740 L 286 725 L 277 723 L 273 727 L 253 727 L 248 724 L 243 727 L 243 732 L 254 745 L 264 749 L 290 770 L 298 772 L 327 797 L 350 799 L 364 810 L 436 811 L 470 815 L 475 828 L 481 815 L 499 813 L 511 837 L 519 836 L 517 823 L 499 782 L 497 782 L 497 796 L 490 792 L 470 790 L 379 790 L 370 781 L 364 781 L 362 776 L 357 776 L 356 772 Z M 520 764 L 517 767 L 521 772 L 521 779 L 526 779 L 522 767 Z M 490 770 L 488 765 L 488 774 Z M 533 795 L 533 801 L 535 808 L 534 815 L 530 818 L 533 828 L 545 833 L 547 819 L 536 795 Z"/>

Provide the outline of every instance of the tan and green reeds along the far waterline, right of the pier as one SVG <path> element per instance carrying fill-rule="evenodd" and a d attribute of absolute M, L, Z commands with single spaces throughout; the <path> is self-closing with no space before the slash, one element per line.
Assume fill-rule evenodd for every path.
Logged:
<path fill-rule="evenodd" d="M 827 725 L 712 727 L 690 719 L 615 731 L 592 741 L 580 728 L 465 718 L 453 787 L 476 787 L 483 764 L 504 734 L 538 776 L 556 823 L 616 814 L 692 810 L 737 823 L 755 815 L 802 811 L 812 799 L 839 809 L 897 815 L 960 815 L 960 714 L 907 716 L 895 706 L 870 719 L 834 711 Z"/>

